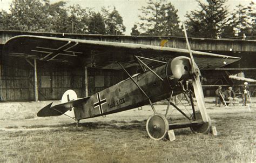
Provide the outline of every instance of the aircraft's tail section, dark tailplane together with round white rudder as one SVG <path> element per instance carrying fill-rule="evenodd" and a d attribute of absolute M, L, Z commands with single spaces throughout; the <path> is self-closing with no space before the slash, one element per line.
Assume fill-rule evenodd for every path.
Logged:
<path fill-rule="evenodd" d="M 49 117 L 49 116 L 61 116 L 65 112 L 69 111 L 68 116 L 75 117 L 73 113 L 73 108 L 81 106 L 85 103 L 90 97 L 85 97 L 77 100 L 77 95 L 75 91 L 68 90 L 63 94 L 62 104 L 51 106 L 51 104 L 42 108 L 38 113 L 37 117 Z"/>

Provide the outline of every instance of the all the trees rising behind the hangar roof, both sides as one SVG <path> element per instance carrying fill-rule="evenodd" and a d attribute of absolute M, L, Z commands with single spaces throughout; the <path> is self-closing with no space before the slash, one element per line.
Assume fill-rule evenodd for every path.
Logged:
<path fill-rule="evenodd" d="M 256 36 L 256 4 L 238 5 L 228 11 L 225 0 L 197 0 L 200 9 L 185 15 L 190 37 L 254 38 Z M 184 4 L 186 5 L 186 4 Z M 10 12 L 0 11 L 0 29 L 124 35 L 123 18 L 113 6 L 95 12 L 80 5 L 66 6 L 63 1 L 13 1 Z M 140 21 L 133 25 L 133 36 L 183 36 L 178 10 L 167 1 L 149 0 L 140 9 Z"/>

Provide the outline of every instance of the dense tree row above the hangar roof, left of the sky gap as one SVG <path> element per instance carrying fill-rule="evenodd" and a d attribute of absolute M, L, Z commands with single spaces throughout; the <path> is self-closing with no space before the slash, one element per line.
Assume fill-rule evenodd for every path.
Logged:
<path fill-rule="evenodd" d="M 0 12 L 0 29 L 102 35 L 125 32 L 123 18 L 114 7 L 95 12 L 79 4 L 66 6 L 63 1 L 20 0 L 12 1 L 9 10 Z"/>

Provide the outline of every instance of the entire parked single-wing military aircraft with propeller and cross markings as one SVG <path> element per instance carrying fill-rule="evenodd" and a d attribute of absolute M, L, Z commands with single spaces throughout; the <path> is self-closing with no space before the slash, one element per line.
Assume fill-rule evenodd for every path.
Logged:
<path fill-rule="evenodd" d="M 186 36 L 186 32 L 185 32 Z M 38 117 L 60 116 L 72 110 L 75 120 L 106 116 L 143 105 L 151 105 L 152 116 L 147 119 L 149 137 L 160 140 L 174 128 L 191 127 L 196 133 L 210 130 L 211 120 L 205 108 L 204 94 L 200 83 L 200 70 L 216 69 L 240 58 L 191 51 L 188 49 L 160 47 L 143 44 L 103 42 L 43 36 L 16 36 L 4 45 L 3 53 L 12 57 L 37 59 L 39 62 L 60 62 L 73 66 L 96 67 L 98 69 L 123 69 L 128 79 L 81 99 L 70 99 L 72 91 L 64 94 L 65 103 L 52 103 L 37 113 Z M 127 67 L 140 66 L 142 72 L 129 74 Z M 171 102 L 171 97 L 187 93 L 196 97 L 199 110 L 191 100 L 192 117 L 187 116 Z M 166 114 L 160 114 L 153 103 L 169 99 Z M 174 123 L 166 119 L 172 105 L 188 120 Z"/>

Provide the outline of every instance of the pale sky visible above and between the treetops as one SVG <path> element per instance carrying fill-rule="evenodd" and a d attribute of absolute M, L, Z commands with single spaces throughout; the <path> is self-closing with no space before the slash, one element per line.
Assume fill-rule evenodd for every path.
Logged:
<path fill-rule="evenodd" d="M 64 0 L 67 2 L 67 5 L 79 4 L 82 8 L 93 8 L 95 11 L 100 11 L 102 6 L 116 6 L 116 9 L 123 17 L 124 25 L 126 26 L 125 35 L 130 35 L 131 28 L 133 24 L 139 22 L 138 15 L 140 14 L 139 9 L 142 6 L 146 6 L 146 0 Z M 159 0 L 160 1 L 160 0 Z M 206 0 L 201 0 L 206 1 Z M 249 5 L 253 1 L 256 3 L 256 0 L 228 0 L 226 5 L 227 9 L 232 11 L 235 9 L 235 6 L 238 4 Z M 3 9 L 8 11 L 10 8 L 12 0 L 0 0 L 0 10 Z M 51 3 L 58 2 L 58 0 L 50 0 Z M 167 0 L 171 2 L 176 9 L 178 9 L 178 16 L 180 21 L 185 21 L 185 15 L 191 10 L 199 9 L 198 3 L 196 0 Z"/>

